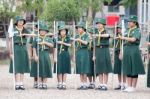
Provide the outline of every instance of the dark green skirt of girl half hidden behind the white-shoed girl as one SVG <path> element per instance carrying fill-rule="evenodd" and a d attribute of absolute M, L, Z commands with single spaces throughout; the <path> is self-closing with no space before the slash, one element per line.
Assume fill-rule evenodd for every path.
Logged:
<path fill-rule="evenodd" d="M 114 63 L 114 74 L 121 74 L 121 67 L 122 67 L 122 62 L 121 60 L 119 59 L 119 54 L 120 54 L 120 51 L 117 50 L 115 51 L 115 57 L 114 57 L 114 60 L 115 60 L 115 63 Z"/>

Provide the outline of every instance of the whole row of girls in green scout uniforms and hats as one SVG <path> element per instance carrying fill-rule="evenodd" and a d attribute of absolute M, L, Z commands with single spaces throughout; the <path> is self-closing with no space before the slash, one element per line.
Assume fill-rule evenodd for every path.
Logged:
<path fill-rule="evenodd" d="M 33 37 L 33 40 L 30 42 L 32 48 L 30 76 L 34 77 L 35 88 L 47 89 L 47 78 L 52 77 L 49 52 L 50 48 L 55 48 L 57 88 L 66 89 L 66 77 L 67 74 L 71 73 L 71 60 L 68 49 L 71 46 L 71 41 L 74 41 L 76 49 L 76 73 L 80 74 L 81 82 L 80 87 L 77 89 L 87 90 L 88 88 L 95 88 L 94 82 L 97 76 L 99 78 L 99 86 L 96 89 L 107 90 L 108 75 L 113 72 L 109 52 L 110 35 L 105 30 L 106 19 L 97 18 L 95 23 L 97 28 L 87 31 L 85 23 L 79 22 L 76 26 L 77 34 L 75 38 L 68 36 L 68 29 L 63 23 L 58 27 L 57 40 L 54 40 L 46 35 L 49 30 L 45 24 L 39 25 L 39 30 L 37 29 L 39 36 L 37 34 L 29 34 L 24 28 L 25 20 L 18 17 L 13 37 L 14 71 L 12 62 L 10 65 L 10 72 L 15 72 L 16 90 L 25 89 L 23 86 L 23 74 L 29 73 L 29 59 L 26 48 L 27 36 Z M 125 92 L 133 92 L 137 84 L 138 75 L 144 74 L 145 71 L 139 51 L 141 32 L 138 27 L 137 16 L 130 16 L 128 26 L 129 29 L 125 36 L 121 36 L 121 26 L 117 26 L 114 73 L 118 74 L 119 85 L 115 89 L 118 90 L 123 87 Z M 121 52 L 121 43 L 124 43 L 123 52 Z M 12 51 L 11 49 L 11 58 L 13 56 Z M 121 78 L 122 72 L 123 78 Z M 87 77 L 90 81 L 89 86 L 87 85 Z M 123 79 L 123 85 L 121 84 L 121 79 Z M 126 81 L 127 87 L 125 87 Z M 37 82 L 40 83 L 38 84 Z"/>

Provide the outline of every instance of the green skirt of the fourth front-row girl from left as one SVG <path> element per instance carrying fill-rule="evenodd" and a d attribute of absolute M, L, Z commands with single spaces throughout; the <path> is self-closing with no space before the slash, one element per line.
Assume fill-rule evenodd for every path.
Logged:
<path fill-rule="evenodd" d="M 76 51 L 76 73 L 90 73 L 89 52 L 87 48 L 81 48 Z"/>

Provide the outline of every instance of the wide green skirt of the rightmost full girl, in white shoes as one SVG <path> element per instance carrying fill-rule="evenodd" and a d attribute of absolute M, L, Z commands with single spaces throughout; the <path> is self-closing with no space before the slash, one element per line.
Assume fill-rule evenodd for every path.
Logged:
<path fill-rule="evenodd" d="M 139 46 L 124 46 L 123 73 L 124 75 L 145 74 Z"/>

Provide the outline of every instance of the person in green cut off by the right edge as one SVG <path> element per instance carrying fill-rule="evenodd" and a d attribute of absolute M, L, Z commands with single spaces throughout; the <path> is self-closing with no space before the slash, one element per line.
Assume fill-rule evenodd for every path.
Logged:
<path fill-rule="evenodd" d="M 148 59 L 150 59 L 150 36 L 147 38 L 148 45 Z M 148 61 L 147 87 L 150 88 L 150 60 Z"/>

